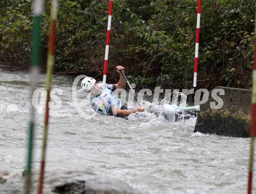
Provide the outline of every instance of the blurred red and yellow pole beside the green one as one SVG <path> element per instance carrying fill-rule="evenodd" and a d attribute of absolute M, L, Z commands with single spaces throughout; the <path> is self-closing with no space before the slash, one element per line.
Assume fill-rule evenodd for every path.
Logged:
<path fill-rule="evenodd" d="M 47 134 L 48 134 L 48 123 L 49 123 L 49 102 L 51 100 L 50 91 L 51 91 L 51 83 L 52 83 L 52 66 L 54 65 L 54 61 L 55 61 L 56 20 L 57 20 L 57 0 L 52 0 L 49 47 L 48 47 L 48 57 L 47 57 L 47 88 L 46 88 L 47 100 L 46 100 L 46 107 L 45 107 L 45 122 L 44 122 L 43 138 L 42 138 L 42 159 L 41 159 L 38 194 L 43 193 L 43 185 L 44 185 L 45 156 L 46 156 L 46 149 L 47 149 Z"/>

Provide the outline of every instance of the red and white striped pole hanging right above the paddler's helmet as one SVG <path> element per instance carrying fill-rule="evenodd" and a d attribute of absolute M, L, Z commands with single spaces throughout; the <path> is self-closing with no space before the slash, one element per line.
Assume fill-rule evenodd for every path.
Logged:
<path fill-rule="evenodd" d="M 109 0 L 108 28 L 106 30 L 106 50 L 105 50 L 104 69 L 103 69 L 103 87 L 104 88 L 106 83 L 106 74 L 108 72 L 108 53 L 109 53 L 112 9 L 113 9 L 113 0 Z"/>

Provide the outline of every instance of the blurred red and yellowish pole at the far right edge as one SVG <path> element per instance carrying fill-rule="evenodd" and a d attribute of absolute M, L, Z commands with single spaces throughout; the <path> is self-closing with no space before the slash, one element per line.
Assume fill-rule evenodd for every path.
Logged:
<path fill-rule="evenodd" d="M 255 3 L 256 11 L 256 3 Z M 253 65 L 253 91 L 251 94 L 251 130 L 250 130 L 250 160 L 248 173 L 248 189 L 247 193 L 252 193 L 253 187 L 253 163 L 254 163 L 254 141 L 255 141 L 255 127 L 256 123 L 256 13 L 255 13 L 255 27 L 254 27 L 254 65 Z"/>

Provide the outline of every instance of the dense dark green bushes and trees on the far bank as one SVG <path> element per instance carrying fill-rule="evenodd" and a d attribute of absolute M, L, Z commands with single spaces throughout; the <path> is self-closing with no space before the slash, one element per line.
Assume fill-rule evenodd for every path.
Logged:
<path fill-rule="evenodd" d="M 108 0 L 59 1 L 55 71 L 84 71 L 102 78 Z M 202 2 L 198 87 L 250 88 L 255 0 Z M 49 1 L 42 50 L 45 68 Z M 109 68 L 125 65 L 140 87 L 192 87 L 197 1 L 114 0 Z M 0 64 L 30 63 L 31 0 L 0 2 Z M 108 74 L 113 82 L 116 74 Z"/>

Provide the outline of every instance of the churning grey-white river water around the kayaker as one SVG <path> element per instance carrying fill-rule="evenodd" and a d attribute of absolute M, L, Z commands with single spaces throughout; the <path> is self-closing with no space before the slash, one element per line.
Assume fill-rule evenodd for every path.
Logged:
<path fill-rule="evenodd" d="M 62 106 L 51 110 L 46 171 L 88 170 L 127 182 L 142 193 L 246 193 L 248 138 L 193 133 L 195 119 L 169 123 L 152 114 L 129 120 L 81 118 L 72 102 L 74 77 L 53 78 Z M 45 89 L 45 75 L 39 88 Z M 26 166 L 30 74 L 0 72 L 0 171 Z M 83 100 L 83 94 L 78 99 Z M 94 114 L 90 105 L 86 115 Z M 41 159 L 44 115 L 37 112 L 34 169 Z M 255 187 L 254 187 L 255 188 Z M 1 188 L 0 188 L 1 189 Z"/>

